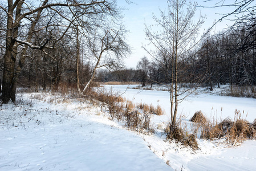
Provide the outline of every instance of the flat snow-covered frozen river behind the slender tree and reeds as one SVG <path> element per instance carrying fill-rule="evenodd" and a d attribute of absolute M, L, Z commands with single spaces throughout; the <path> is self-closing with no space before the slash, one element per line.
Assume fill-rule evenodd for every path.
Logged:
<path fill-rule="evenodd" d="M 152 91 L 132 89 L 135 85 L 106 85 L 106 89 L 112 88 L 121 93 L 123 97 L 133 103 L 159 104 L 165 110 L 165 116 L 161 119 L 169 119 L 170 116 L 170 93 L 168 91 Z M 202 111 L 205 116 L 211 119 L 225 119 L 235 116 L 235 110 L 240 111 L 241 118 L 253 122 L 256 118 L 256 99 L 246 97 L 229 97 L 199 93 L 186 97 L 178 105 L 178 115 L 184 115 L 190 119 L 196 111 Z"/>

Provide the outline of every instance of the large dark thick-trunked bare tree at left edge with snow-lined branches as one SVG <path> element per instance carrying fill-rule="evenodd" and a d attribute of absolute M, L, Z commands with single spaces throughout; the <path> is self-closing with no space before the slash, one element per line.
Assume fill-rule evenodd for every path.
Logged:
<path fill-rule="evenodd" d="M 56 43 L 63 39 L 78 18 L 96 19 L 98 14 L 115 17 L 118 12 L 114 0 L 58 2 L 44 0 L 35 4 L 25 3 L 25 0 L 8 0 L 7 5 L 1 2 L 0 8 L 7 15 L 3 103 L 7 103 L 10 99 L 15 101 L 18 75 L 25 64 L 28 48 L 42 50 L 44 54 L 50 56 L 47 49 L 55 48 Z M 39 21 L 42 21 L 41 25 L 38 24 Z M 90 23 L 83 23 L 83 25 L 90 28 Z M 60 31 L 57 37 L 51 34 L 55 30 Z M 33 44 L 33 35 L 40 31 L 48 32 L 49 36 L 46 36 L 40 44 Z M 50 58 L 54 59 L 54 56 Z"/>

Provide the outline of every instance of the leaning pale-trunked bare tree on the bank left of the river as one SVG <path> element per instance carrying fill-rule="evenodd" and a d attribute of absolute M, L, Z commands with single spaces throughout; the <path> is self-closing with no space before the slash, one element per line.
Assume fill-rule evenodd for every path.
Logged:
<path fill-rule="evenodd" d="M 113 69 L 121 66 L 122 59 L 130 52 L 129 45 L 125 42 L 126 33 L 127 30 L 123 25 L 120 25 L 117 28 L 111 28 L 111 26 L 97 27 L 94 34 L 87 36 L 88 55 L 93 56 L 95 64 L 91 79 L 87 82 L 83 92 L 94 80 L 97 68 Z"/>

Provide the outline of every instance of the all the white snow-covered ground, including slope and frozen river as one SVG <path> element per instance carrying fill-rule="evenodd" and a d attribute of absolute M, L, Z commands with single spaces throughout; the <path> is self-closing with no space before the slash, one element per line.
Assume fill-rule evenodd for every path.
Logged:
<path fill-rule="evenodd" d="M 0 170 L 255 170 L 255 140 L 230 147 L 197 139 L 198 150 L 166 141 L 168 91 L 105 88 L 119 91 L 133 103 L 161 105 L 165 115 L 151 118 L 155 133 L 129 131 L 124 121 L 109 120 L 108 111 L 90 100 L 58 93 L 19 93 L 17 103 L 0 107 Z M 255 104 L 256 99 L 201 89 L 180 103 L 178 113 L 189 125 L 196 111 L 218 120 L 234 118 L 237 109 L 252 122 Z"/>

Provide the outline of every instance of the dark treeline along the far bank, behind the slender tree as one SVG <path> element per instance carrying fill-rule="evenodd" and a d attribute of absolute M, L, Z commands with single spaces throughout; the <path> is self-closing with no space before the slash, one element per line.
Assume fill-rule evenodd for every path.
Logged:
<path fill-rule="evenodd" d="M 255 25 L 251 30 L 255 30 Z M 166 53 L 167 54 L 167 53 Z M 172 81 L 172 58 L 158 54 L 152 61 L 141 58 L 136 68 L 97 74 L 99 82 L 141 82 L 145 84 Z M 184 59 L 184 60 L 183 60 Z M 200 46 L 178 62 L 178 82 L 203 83 L 212 89 L 220 84 L 256 86 L 256 34 L 232 29 L 206 36 Z M 200 79 L 198 79 L 200 78 Z"/>

